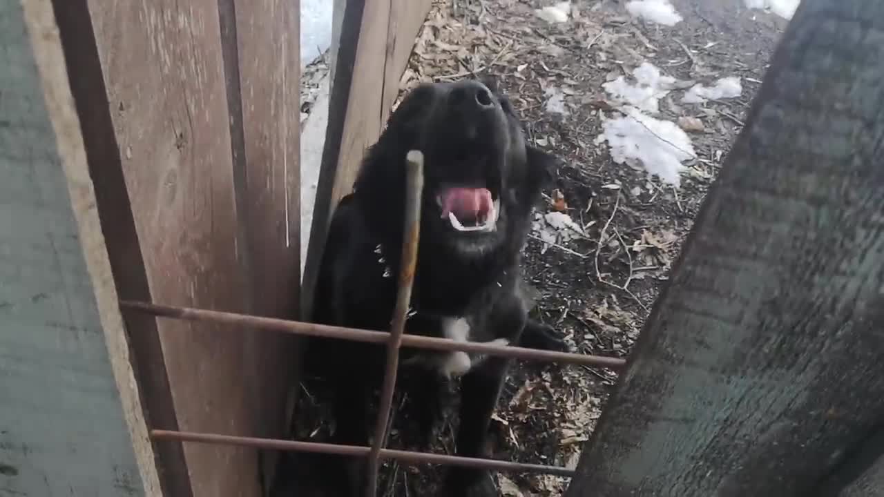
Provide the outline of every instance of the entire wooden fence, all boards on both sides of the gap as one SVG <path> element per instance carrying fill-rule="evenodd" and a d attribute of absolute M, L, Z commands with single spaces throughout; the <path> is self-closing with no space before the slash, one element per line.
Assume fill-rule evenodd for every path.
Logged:
<path fill-rule="evenodd" d="M 0 493 L 261 493 L 149 429 L 283 437 L 297 340 L 118 299 L 299 316 L 428 8 L 345 4 L 301 295 L 297 2 L 0 3 Z M 880 33 L 804 0 L 568 496 L 884 495 Z"/>

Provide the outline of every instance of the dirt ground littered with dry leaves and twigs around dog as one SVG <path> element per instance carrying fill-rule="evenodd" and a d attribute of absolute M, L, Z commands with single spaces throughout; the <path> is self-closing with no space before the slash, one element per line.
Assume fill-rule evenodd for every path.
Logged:
<path fill-rule="evenodd" d="M 535 9 L 552 2 L 439 0 L 401 81 L 407 91 L 422 81 L 492 74 L 530 141 L 559 157 L 537 212 L 568 214 L 581 233 L 556 245 L 535 233 L 525 271 L 537 289 L 534 314 L 564 333 L 575 352 L 629 356 L 786 26 L 773 14 L 745 9 L 742 0 L 672 3 L 683 20 L 665 27 L 634 19 L 610 0 L 575 2 L 563 23 L 537 16 Z M 614 164 L 607 145 L 596 141 L 602 115 L 619 115 L 602 84 L 629 78 L 644 61 L 678 80 L 742 79 L 735 98 L 688 105 L 677 90 L 660 100 L 658 119 L 696 118 L 694 126 L 703 127 L 690 133 L 696 157 L 683 163 L 680 187 L 640 166 Z M 563 93 L 568 115 L 545 111 L 547 88 Z M 492 422 L 494 457 L 573 468 L 616 379 L 603 369 L 514 364 Z M 301 437 L 319 440 L 325 427 L 313 395 L 302 396 Z M 399 436 L 405 421 L 393 424 L 392 447 L 411 448 Z M 446 419 L 434 451 L 453 453 L 455 425 Z M 387 463 L 379 494 L 432 495 L 439 474 Z M 501 474 L 499 483 L 508 496 L 556 496 L 567 478 Z"/>

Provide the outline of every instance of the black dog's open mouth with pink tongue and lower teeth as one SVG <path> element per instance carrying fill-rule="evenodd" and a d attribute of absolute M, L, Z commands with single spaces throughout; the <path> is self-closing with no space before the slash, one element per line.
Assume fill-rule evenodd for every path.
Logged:
<path fill-rule="evenodd" d="M 442 218 L 461 232 L 489 232 L 497 226 L 500 200 L 488 188 L 448 187 L 436 197 Z"/>

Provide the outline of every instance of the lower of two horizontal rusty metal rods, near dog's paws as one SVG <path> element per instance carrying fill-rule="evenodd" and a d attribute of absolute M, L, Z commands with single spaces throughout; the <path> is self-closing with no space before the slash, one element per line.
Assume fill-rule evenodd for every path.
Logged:
<path fill-rule="evenodd" d="M 325 444 L 294 440 L 258 439 L 253 437 L 218 435 L 215 433 L 173 432 L 169 430 L 151 430 L 150 437 L 155 440 L 179 440 L 217 445 L 309 452 L 313 454 L 352 455 L 354 457 L 364 457 L 369 455 L 371 450 L 370 447 L 352 445 Z M 411 452 L 408 450 L 392 450 L 390 448 L 382 448 L 380 450 L 380 457 L 382 459 L 395 459 L 404 463 L 446 464 L 449 466 L 466 466 L 483 470 L 541 473 L 547 475 L 559 475 L 561 477 L 574 476 L 574 470 L 568 470 L 568 468 L 561 468 L 559 466 L 512 463 L 509 461 L 497 461 L 494 459 L 428 454 L 425 452 Z"/>

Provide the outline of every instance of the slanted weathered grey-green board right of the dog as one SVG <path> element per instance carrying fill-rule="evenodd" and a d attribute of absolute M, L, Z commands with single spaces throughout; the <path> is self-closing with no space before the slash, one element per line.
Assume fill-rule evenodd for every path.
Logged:
<path fill-rule="evenodd" d="M 801 4 L 566 495 L 812 495 L 884 419 L 882 43 Z"/>

